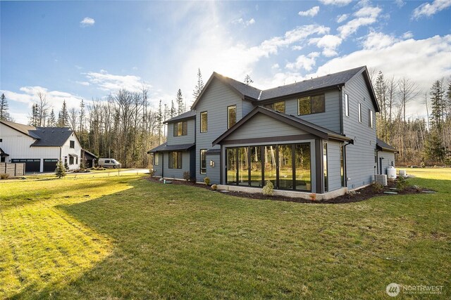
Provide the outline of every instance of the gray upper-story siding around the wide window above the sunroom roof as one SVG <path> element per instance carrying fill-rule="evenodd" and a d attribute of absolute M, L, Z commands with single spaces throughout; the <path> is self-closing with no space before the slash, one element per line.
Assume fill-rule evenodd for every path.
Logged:
<path fill-rule="evenodd" d="M 298 116 L 297 99 L 285 100 L 285 113 L 304 119 L 308 122 L 323 126 L 326 129 L 340 133 L 340 91 L 326 91 L 324 93 L 326 112 L 313 115 Z"/>

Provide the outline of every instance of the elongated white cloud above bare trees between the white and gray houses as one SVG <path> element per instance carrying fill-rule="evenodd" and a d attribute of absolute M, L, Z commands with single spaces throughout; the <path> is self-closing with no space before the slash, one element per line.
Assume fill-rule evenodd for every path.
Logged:
<path fill-rule="evenodd" d="M 126 89 L 128 91 L 140 91 L 145 82 L 137 76 L 133 75 L 113 75 L 106 70 L 100 72 L 88 72 L 85 74 L 89 84 L 98 86 L 102 91 L 114 92 L 119 89 Z M 149 85 L 147 85 L 149 86 Z"/>

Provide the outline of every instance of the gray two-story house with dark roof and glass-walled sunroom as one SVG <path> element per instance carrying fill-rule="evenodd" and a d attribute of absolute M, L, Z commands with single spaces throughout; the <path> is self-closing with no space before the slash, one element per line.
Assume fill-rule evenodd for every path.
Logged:
<path fill-rule="evenodd" d="M 149 152 L 156 176 L 188 171 L 248 192 L 271 181 L 285 194 L 326 199 L 394 165 L 396 150 L 376 138 L 376 112 L 366 67 L 267 90 L 214 72 L 190 112 L 167 121 L 167 142 Z"/>

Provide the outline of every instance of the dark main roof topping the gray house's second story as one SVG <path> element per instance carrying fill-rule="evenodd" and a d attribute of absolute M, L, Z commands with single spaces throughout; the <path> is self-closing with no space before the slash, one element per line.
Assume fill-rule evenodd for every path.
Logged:
<path fill-rule="evenodd" d="M 366 66 L 362 67 L 354 67 L 350 70 L 345 70 L 341 72 L 336 72 L 333 74 L 327 74 L 325 76 L 306 79 L 303 81 L 296 82 L 294 84 L 287 84 L 285 86 L 278 86 L 273 89 L 261 90 L 254 88 L 253 86 L 249 86 L 247 84 L 243 84 L 240 81 L 236 81 L 235 79 L 231 79 L 229 77 L 225 77 L 221 74 L 213 72 L 211 77 L 206 82 L 204 89 L 202 89 L 201 93 L 197 99 L 192 103 L 191 109 L 194 110 L 200 98 L 204 95 L 206 89 L 208 89 L 209 84 L 213 79 L 220 80 L 223 84 L 226 84 L 230 87 L 235 93 L 237 93 L 241 98 L 253 101 L 271 101 L 277 100 L 279 98 L 288 98 L 290 96 L 295 96 L 301 93 L 308 93 L 311 91 L 319 91 L 322 89 L 331 89 L 331 88 L 339 88 L 340 86 L 344 86 L 347 81 L 350 81 L 353 77 L 358 74 L 363 74 L 366 87 L 369 90 L 369 95 L 371 100 L 373 101 L 373 105 L 375 107 L 376 112 L 380 112 L 380 108 L 378 105 L 378 101 L 376 100 L 376 94 L 374 93 L 373 86 L 371 84 L 371 80 L 369 78 L 368 70 Z"/>

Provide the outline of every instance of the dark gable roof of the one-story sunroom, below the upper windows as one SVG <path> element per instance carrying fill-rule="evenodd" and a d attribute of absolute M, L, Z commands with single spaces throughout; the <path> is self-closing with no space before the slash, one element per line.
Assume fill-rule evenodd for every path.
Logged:
<path fill-rule="evenodd" d="M 311 122 L 307 122 L 304 119 L 299 119 L 298 117 L 292 115 L 286 115 L 283 112 L 276 112 L 274 110 L 269 110 L 268 108 L 265 107 L 257 106 L 254 108 L 254 110 L 249 112 L 249 114 L 247 114 L 244 118 L 240 119 L 240 121 L 238 121 L 235 125 L 230 127 L 228 131 L 224 132 L 223 134 L 221 134 L 221 136 L 216 138 L 216 140 L 213 141 L 212 145 L 217 145 L 218 143 L 221 143 L 221 141 L 227 138 L 231 133 L 239 129 L 240 126 L 245 124 L 249 119 L 254 117 L 254 115 L 257 115 L 259 113 L 267 115 L 268 117 L 272 117 L 274 119 L 278 119 L 280 122 L 284 122 L 290 126 L 302 129 L 303 131 L 311 133 L 314 136 L 318 136 L 319 138 L 323 138 L 326 140 L 331 138 L 338 141 L 351 141 L 351 138 L 342 136 L 340 133 L 336 133 L 335 131 L 331 131 L 324 127 L 313 124 Z"/>

